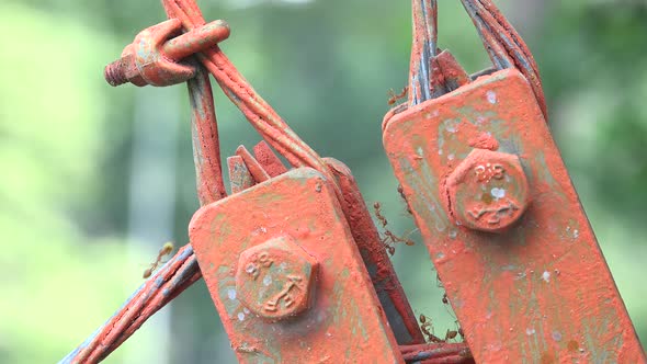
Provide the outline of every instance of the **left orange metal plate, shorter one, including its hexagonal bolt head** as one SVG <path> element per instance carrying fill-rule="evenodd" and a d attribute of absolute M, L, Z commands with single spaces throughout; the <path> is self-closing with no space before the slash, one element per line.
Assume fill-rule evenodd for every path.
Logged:
<path fill-rule="evenodd" d="M 241 363 L 402 362 L 332 186 L 315 170 L 201 208 L 190 237 Z M 276 319 L 295 306 L 303 312 Z"/>

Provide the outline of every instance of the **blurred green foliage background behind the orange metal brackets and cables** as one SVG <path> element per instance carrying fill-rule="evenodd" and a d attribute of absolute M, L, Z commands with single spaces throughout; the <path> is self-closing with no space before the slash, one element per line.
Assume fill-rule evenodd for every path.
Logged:
<path fill-rule="evenodd" d="M 406 83 L 410 8 L 387 0 L 200 1 L 232 29 L 223 49 L 322 156 L 348 163 L 396 232 L 415 228 L 382 149 L 387 91 Z M 647 3 L 498 1 L 534 52 L 550 125 L 643 342 L 647 341 Z M 0 362 L 61 359 L 143 282 L 167 240 L 186 241 L 195 197 L 185 88 L 103 81 L 158 1 L 0 3 Z M 458 1 L 440 46 L 488 66 Z M 258 136 L 216 91 L 224 156 Z M 423 247 L 396 268 L 416 312 L 454 328 Z M 234 362 L 204 284 L 107 363 Z"/>

